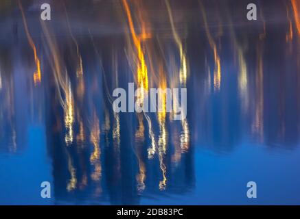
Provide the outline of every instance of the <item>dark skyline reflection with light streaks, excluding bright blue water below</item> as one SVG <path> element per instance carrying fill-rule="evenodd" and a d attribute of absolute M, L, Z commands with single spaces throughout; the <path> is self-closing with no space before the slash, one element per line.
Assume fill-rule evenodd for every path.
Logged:
<path fill-rule="evenodd" d="M 261 12 L 261 22 L 241 27 L 230 2 L 189 1 L 184 10 L 173 1 L 107 3 L 122 14 L 110 17 L 121 34 L 108 36 L 75 25 L 66 3 L 57 11 L 63 37 L 49 23 L 32 28 L 24 5 L 14 22 L 27 18 L 16 38 L 22 30 L 27 37 L 0 41 L 1 153 L 25 151 L 38 127 L 46 133 L 40 146 L 51 159 L 57 203 L 135 205 L 193 191 L 196 149 L 230 153 L 245 142 L 293 149 L 300 131 L 299 5 L 281 7 L 284 25 Z M 158 5 L 161 22 L 151 13 Z M 197 13 L 188 19 L 192 8 Z M 187 118 L 172 120 L 165 95 L 161 112 L 113 112 L 113 90 L 129 82 L 187 88 Z"/>

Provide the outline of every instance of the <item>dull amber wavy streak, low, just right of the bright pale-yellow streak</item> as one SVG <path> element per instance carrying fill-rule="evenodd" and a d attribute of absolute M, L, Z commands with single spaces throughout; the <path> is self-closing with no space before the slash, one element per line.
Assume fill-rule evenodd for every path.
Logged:
<path fill-rule="evenodd" d="M 91 153 L 90 161 L 93 166 L 95 166 L 94 172 L 91 175 L 91 179 L 93 181 L 100 181 L 102 176 L 102 166 L 100 162 L 100 127 L 99 127 L 99 119 L 97 118 L 97 114 L 93 113 L 93 124 L 91 127 L 91 135 L 90 141 L 93 144 L 93 153 Z"/>

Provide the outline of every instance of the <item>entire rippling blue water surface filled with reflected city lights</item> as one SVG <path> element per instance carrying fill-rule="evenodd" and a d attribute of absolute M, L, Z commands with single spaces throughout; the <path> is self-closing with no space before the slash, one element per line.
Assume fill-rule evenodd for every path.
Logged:
<path fill-rule="evenodd" d="M 246 3 L 52 1 L 51 22 L 0 3 L 0 203 L 249 203 L 251 180 L 258 203 L 299 203 L 299 1 L 259 1 L 253 22 Z M 130 82 L 187 88 L 187 118 L 165 93 L 113 112 Z"/>

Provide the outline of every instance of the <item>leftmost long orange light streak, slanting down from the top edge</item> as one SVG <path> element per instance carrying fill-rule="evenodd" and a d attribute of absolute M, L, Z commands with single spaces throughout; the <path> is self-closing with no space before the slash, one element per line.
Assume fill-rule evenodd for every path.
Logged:
<path fill-rule="evenodd" d="M 30 44 L 30 47 L 32 47 L 32 50 L 34 51 L 34 62 L 36 63 L 36 71 L 34 72 L 33 78 L 34 78 L 34 85 L 36 85 L 38 83 L 41 83 L 41 62 L 38 59 L 38 55 L 36 53 L 36 46 L 34 44 L 34 40 L 32 40 L 32 36 L 30 35 L 30 31 L 27 27 L 27 21 L 26 21 L 25 14 L 24 14 L 23 7 L 22 7 L 22 4 L 21 4 L 20 0 L 18 1 L 18 5 L 19 5 L 19 8 L 21 10 L 27 40 Z"/>

